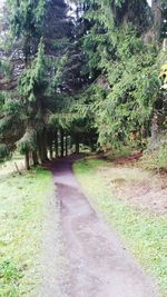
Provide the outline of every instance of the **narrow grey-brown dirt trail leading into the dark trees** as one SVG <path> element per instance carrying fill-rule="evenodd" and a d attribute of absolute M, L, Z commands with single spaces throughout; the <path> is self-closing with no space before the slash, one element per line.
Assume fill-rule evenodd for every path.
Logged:
<path fill-rule="evenodd" d="M 89 205 L 72 174 L 72 161 L 68 158 L 53 166 L 70 264 L 70 297 L 157 297 L 151 279 Z"/>

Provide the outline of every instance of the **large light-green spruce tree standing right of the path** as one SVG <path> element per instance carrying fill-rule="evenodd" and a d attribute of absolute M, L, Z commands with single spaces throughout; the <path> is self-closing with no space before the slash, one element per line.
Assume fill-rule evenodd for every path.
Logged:
<path fill-rule="evenodd" d="M 150 136 L 155 111 L 164 110 L 159 50 L 143 41 L 150 9 L 146 1 L 90 1 L 84 18 L 89 19 L 81 38 L 84 70 L 95 86 L 89 88 L 88 105 L 99 142 L 118 146 L 129 143 L 135 136 L 135 142 L 143 147 L 143 136 Z"/>

